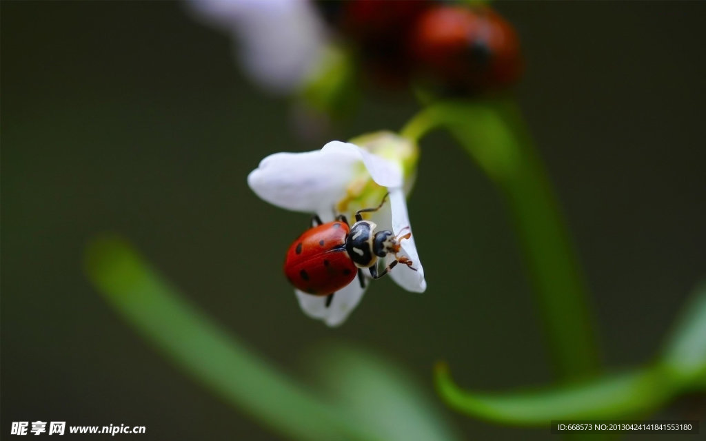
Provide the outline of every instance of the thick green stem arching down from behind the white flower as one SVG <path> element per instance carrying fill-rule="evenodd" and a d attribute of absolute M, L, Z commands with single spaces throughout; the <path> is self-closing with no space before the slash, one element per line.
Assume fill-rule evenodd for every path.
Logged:
<path fill-rule="evenodd" d="M 563 378 L 595 373 L 597 343 L 582 274 L 520 111 L 512 102 L 432 104 L 401 135 L 416 142 L 436 128 L 450 131 L 505 195 L 557 373 Z"/>

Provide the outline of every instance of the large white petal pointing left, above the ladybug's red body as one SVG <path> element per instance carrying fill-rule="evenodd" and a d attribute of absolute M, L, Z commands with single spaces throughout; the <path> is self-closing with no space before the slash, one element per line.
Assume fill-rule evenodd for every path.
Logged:
<path fill-rule="evenodd" d="M 345 196 L 360 157 L 345 150 L 275 153 L 248 175 L 248 185 L 268 203 L 299 212 L 331 212 Z"/>

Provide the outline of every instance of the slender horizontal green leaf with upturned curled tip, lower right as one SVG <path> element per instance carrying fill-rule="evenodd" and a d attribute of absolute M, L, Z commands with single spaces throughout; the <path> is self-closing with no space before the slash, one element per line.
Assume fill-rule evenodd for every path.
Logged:
<path fill-rule="evenodd" d="M 549 426 L 552 420 L 640 416 L 671 399 L 674 385 L 659 368 L 642 368 L 561 387 L 508 393 L 458 389 L 447 366 L 435 370 L 436 388 L 453 409 L 495 423 Z"/>

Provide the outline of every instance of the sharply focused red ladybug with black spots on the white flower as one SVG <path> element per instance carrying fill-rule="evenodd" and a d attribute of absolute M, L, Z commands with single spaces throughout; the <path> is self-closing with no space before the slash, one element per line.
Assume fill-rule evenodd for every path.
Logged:
<path fill-rule="evenodd" d="M 366 268 L 373 279 L 383 277 L 397 263 L 416 271 L 411 260 L 397 255 L 400 241 L 409 238 L 412 233 L 395 236 L 388 230 L 375 232 L 376 224 L 363 219 L 362 213 L 380 210 L 386 198 L 387 195 L 376 208 L 358 210 L 353 226 L 349 226 L 344 215 L 325 224 L 314 215 L 311 228 L 304 231 L 287 250 L 285 275 L 289 282 L 312 296 L 326 296 L 328 307 L 335 291 L 348 286 L 356 276 L 361 288 L 365 287 L 363 270 Z M 388 254 L 395 255 L 395 260 L 378 272 L 378 258 L 385 258 Z"/>

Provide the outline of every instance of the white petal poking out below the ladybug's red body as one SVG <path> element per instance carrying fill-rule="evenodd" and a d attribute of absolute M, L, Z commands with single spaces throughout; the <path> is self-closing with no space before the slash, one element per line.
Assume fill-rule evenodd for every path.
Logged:
<path fill-rule="evenodd" d="M 365 289 L 360 287 L 357 278 L 354 279 L 344 289 L 336 291 L 328 308 L 326 307 L 326 297 L 324 296 L 312 296 L 298 289 L 295 289 L 294 293 L 297 294 L 299 306 L 301 306 L 301 310 L 306 315 L 323 320 L 326 325 L 334 327 L 345 322 L 348 315 L 358 306 L 360 299 L 363 298 Z"/>

